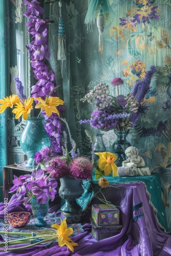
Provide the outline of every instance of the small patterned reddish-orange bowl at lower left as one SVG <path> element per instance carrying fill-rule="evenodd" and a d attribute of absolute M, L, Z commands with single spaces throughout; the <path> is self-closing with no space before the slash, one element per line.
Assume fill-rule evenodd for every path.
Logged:
<path fill-rule="evenodd" d="M 8 223 L 12 227 L 24 227 L 30 221 L 30 212 L 27 211 L 17 211 L 8 214 Z"/>

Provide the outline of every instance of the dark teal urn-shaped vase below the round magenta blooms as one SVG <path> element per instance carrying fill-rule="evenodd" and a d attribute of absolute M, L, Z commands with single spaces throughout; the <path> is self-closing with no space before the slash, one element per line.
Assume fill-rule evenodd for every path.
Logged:
<path fill-rule="evenodd" d="M 76 199 L 84 193 L 82 180 L 75 178 L 61 178 L 59 196 L 65 200 L 61 210 L 67 214 L 78 214 L 81 207 L 77 204 Z"/>

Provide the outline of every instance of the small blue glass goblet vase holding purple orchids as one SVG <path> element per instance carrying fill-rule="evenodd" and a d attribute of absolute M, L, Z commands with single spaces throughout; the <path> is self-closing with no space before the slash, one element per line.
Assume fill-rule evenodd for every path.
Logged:
<path fill-rule="evenodd" d="M 45 227 L 47 225 L 47 222 L 44 220 L 44 218 L 48 215 L 49 210 L 49 202 L 45 204 L 39 204 L 36 200 L 36 198 L 31 198 L 31 207 L 33 216 L 37 218 L 37 221 L 35 222 L 35 226 L 37 227 Z"/>

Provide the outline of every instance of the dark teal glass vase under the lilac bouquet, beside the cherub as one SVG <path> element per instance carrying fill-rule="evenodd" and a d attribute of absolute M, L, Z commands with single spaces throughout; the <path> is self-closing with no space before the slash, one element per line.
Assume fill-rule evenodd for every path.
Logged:
<path fill-rule="evenodd" d="M 118 132 L 114 130 L 117 136 L 117 140 L 113 143 L 112 149 L 113 153 L 117 155 L 116 165 L 122 166 L 122 162 L 126 160 L 125 150 L 127 147 L 131 146 L 131 143 L 127 141 L 126 136 L 129 134 L 130 130 L 124 132 Z"/>

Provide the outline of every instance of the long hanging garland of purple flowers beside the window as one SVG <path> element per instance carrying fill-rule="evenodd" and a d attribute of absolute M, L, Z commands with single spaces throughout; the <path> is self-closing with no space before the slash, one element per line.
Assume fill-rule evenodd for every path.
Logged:
<path fill-rule="evenodd" d="M 32 35 L 31 42 L 26 47 L 31 58 L 34 78 L 38 80 L 32 86 L 31 94 L 33 97 L 41 97 L 44 100 L 50 94 L 56 97 L 55 74 L 49 69 L 48 65 L 50 52 L 47 34 L 48 24 L 52 21 L 48 18 L 41 18 L 41 15 L 44 14 L 44 9 L 38 1 L 24 1 L 23 4 L 27 5 L 27 11 L 24 15 L 29 19 L 27 23 L 28 33 Z M 63 106 L 58 107 L 59 114 L 64 110 Z M 45 113 L 42 113 L 42 115 L 45 116 L 45 129 L 50 136 L 53 150 L 56 153 L 61 153 L 60 134 L 63 132 L 62 123 L 56 113 L 53 113 L 50 117 Z"/>

